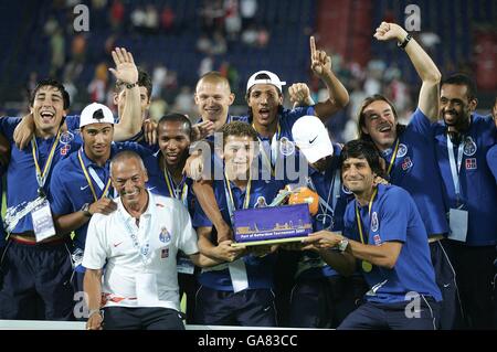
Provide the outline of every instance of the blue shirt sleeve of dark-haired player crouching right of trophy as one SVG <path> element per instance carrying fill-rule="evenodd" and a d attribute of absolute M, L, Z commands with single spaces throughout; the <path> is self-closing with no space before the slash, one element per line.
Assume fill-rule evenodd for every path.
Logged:
<path fill-rule="evenodd" d="M 412 212 L 411 195 L 401 188 L 390 189 L 381 203 L 380 236 L 383 242 L 405 242 Z"/>

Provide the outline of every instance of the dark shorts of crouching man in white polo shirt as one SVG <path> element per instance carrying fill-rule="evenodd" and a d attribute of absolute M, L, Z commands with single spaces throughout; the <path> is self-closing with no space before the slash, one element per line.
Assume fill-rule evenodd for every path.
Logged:
<path fill-rule="evenodd" d="M 184 330 L 179 311 L 169 308 L 104 308 L 104 330 Z"/>

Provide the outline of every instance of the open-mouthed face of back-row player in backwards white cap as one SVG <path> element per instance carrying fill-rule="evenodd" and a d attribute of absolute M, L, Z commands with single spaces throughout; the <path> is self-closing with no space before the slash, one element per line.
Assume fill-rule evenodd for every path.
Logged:
<path fill-rule="evenodd" d="M 256 84 L 250 89 L 247 104 L 252 109 L 254 124 L 269 127 L 276 122 L 283 95 L 272 84 Z"/>

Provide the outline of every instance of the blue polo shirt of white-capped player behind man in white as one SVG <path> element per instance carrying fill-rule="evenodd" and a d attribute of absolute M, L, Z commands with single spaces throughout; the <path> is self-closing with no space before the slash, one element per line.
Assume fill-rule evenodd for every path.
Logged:
<path fill-rule="evenodd" d="M 142 158 L 150 154 L 150 151 L 148 149 L 137 143 L 117 142 L 112 145 L 110 158 L 109 160 L 107 160 L 104 167 L 99 167 L 92 160 L 89 160 L 86 157 L 83 147 L 81 148 L 81 157 L 86 170 L 88 170 L 88 168 L 95 170 L 101 181 L 104 183 L 104 185 L 106 185 L 110 178 L 109 173 L 110 159 L 121 150 L 136 151 Z M 80 152 L 72 153 L 68 158 L 61 161 L 53 170 L 52 180 L 50 183 L 51 189 L 50 204 L 52 213 L 54 215 L 72 214 L 74 212 L 78 212 L 85 203 L 92 204 L 95 202 L 88 181 L 85 178 L 85 174 L 81 167 L 78 154 Z M 95 190 L 96 196 L 101 199 L 104 190 L 97 186 L 97 184 L 92 179 L 89 173 L 88 177 L 92 180 L 92 184 Z M 109 188 L 109 193 L 107 196 L 109 198 L 117 196 L 112 185 Z M 81 249 L 85 248 L 86 231 L 88 228 L 88 223 L 84 224 L 83 226 L 74 231 L 76 235 L 74 237 L 74 244 L 77 248 Z"/>

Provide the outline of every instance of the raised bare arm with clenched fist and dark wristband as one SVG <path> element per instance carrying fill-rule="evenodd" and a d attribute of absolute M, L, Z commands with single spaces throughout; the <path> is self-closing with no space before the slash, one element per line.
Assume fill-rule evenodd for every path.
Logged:
<path fill-rule="evenodd" d="M 404 50 L 423 82 L 417 107 L 432 122 L 435 122 L 438 119 L 440 82 L 442 74 L 423 47 L 414 39 L 409 40 L 408 34 L 399 24 L 381 22 L 374 33 L 374 38 L 379 41 L 396 40 L 400 44 L 403 44 L 408 40 Z"/>

